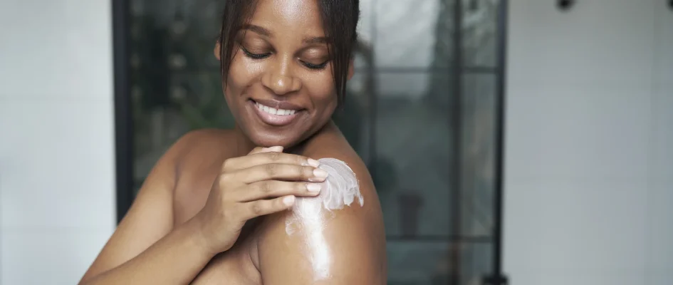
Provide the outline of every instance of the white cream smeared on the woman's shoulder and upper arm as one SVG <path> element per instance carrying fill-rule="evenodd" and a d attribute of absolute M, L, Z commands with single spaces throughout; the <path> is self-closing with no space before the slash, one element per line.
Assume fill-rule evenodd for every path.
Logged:
<path fill-rule="evenodd" d="M 358 198 L 360 207 L 365 203 L 355 173 L 345 162 L 334 158 L 321 158 L 318 161 L 318 168 L 329 174 L 327 180 L 321 183 L 320 195 L 298 197 L 285 227 L 288 235 L 301 234 L 304 254 L 313 267 L 315 280 L 330 276 L 331 253 L 323 229 L 333 217 L 333 210 L 350 206 L 355 198 Z"/>

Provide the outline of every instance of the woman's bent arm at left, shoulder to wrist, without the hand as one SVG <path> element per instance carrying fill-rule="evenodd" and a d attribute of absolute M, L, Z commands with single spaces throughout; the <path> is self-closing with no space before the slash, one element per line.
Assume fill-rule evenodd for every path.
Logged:
<path fill-rule="evenodd" d="M 132 207 L 80 284 L 188 284 L 212 258 L 190 220 L 173 229 L 177 160 L 199 140 L 199 131 L 178 140 L 157 162 Z"/>

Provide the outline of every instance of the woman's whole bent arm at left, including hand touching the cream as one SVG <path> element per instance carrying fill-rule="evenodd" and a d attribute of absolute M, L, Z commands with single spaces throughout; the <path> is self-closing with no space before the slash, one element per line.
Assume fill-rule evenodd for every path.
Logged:
<path fill-rule="evenodd" d="M 197 131 L 179 140 L 145 180 L 132 209 L 82 284 L 188 284 L 220 252 L 229 250 L 245 222 L 285 211 L 295 197 L 315 197 L 317 162 L 281 153 L 282 147 L 256 147 L 221 165 L 204 207 L 172 229 L 175 173 L 189 149 L 204 149 L 208 137 Z M 207 136 L 208 133 L 205 134 Z M 211 133 L 212 135 L 212 133 Z M 316 174 L 317 173 L 317 174 Z"/>

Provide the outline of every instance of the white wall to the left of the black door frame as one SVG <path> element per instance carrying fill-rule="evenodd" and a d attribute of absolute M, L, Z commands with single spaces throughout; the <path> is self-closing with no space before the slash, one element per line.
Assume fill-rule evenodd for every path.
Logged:
<path fill-rule="evenodd" d="M 115 227 L 110 1 L 0 1 L 0 284 L 76 284 Z"/>

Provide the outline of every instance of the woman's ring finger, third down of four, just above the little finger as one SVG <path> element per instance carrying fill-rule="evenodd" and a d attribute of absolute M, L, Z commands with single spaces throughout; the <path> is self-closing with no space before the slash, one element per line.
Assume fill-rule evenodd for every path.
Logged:
<path fill-rule="evenodd" d="M 266 180 L 252 183 L 249 187 L 241 187 L 237 199 L 239 202 L 250 202 L 288 195 L 313 197 L 318 194 L 320 194 L 318 183 Z"/>

